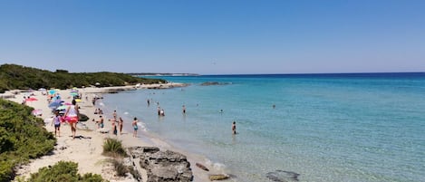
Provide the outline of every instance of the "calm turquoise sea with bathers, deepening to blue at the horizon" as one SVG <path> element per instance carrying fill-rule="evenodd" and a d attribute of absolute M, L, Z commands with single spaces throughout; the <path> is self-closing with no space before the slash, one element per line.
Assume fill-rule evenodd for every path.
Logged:
<path fill-rule="evenodd" d="M 425 181 L 424 72 L 154 78 L 189 85 L 105 94 L 103 110 L 230 181 Z"/>

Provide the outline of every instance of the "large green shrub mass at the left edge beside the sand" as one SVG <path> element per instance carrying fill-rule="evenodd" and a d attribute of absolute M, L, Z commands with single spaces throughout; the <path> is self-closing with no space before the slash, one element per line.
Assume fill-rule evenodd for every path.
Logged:
<path fill-rule="evenodd" d="M 0 99 L 0 182 L 14 178 L 15 168 L 53 150 L 56 139 L 43 128 L 34 110 Z"/>

